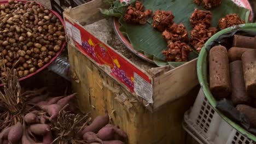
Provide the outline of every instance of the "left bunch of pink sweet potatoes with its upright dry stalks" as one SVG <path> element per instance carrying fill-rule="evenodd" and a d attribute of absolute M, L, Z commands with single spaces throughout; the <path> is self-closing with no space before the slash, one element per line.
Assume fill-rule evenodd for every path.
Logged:
<path fill-rule="evenodd" d="M 52 139 L 51 128 L 59 112 L 74 97 L 48 97 L 46 88 L 23 92 L 17 71 L 1 79 L 0 143 L 36 143 Z M 45 101 L 43 101 L 45 100 Z M 70 106 L 66 106 L 68 109 Z M 46 140 L 45 140 L 46 139 Z M 44 142 L 51 143 L 51 142 Z"/>

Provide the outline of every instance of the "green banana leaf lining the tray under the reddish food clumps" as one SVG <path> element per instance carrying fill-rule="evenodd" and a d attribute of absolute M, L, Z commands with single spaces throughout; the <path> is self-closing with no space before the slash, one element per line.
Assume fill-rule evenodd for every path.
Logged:
<path fill-rule="evenodd" d="M 117 1 L 115 1 L 117 3 Z M 161 10 L 171 10 L 173 15 L 175 16 L 174 22 L 183 23 L 187 28 L 187 31 L 193 29 L 190 25 L 189 17 L 193 13 L 194 9 L 202 9 L 203 5 L 197 5 L 193 0 L 144 0 L 142 1 L 146 9 L 152 9 L 153 11 L 157 9 Z M 124 35 L 130 40 L 133 48 L 137 51 L 143 51 L 144 55 L 148 57 L 152 57 L 154 62 L 158 66 L 163 66 L 170 64 L 172 67 L 178 67 L 179 65 L 184 64 L 185 62 L 166 62 L 165 56 L 162 55 L 162 51 L 167 49 L 167 43 L 162 38 L 161 32 L 156 31 L 152 27 L 152 18 L 148 19 L 146 25 L 133 25 L 130 23 L 126 23 L 123 20 L 121 15 L 124 15 L 125 8 L 127 8 L 127 4 L 120 3 L 117 7 L 112 7 L 109 10 L 102 10 L 101 12 L 105 15 L 114 16 L 114 14 L 119 13 L 119 23 L 121 25 L 120 31 L 123 32 Z M 212 26 L 217 27 L 218 21 L 221 17 L 225 17 L 227 14 L 236 13 L 241 19 L 248 22 L 250 10 L 246 8 L 239 7 L 231 0 L 223 0 L 222 4 L 219 7 L 212 8 L 210 10 L 212 12 Z M 198 53 L 195 51 L 190 52 L 189 61 L 198 56 Z"/>

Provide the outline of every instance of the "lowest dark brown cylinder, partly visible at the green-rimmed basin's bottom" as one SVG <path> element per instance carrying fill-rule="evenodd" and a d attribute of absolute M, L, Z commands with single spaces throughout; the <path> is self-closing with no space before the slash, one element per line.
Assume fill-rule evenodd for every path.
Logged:
<path fill-rule="evenodd" d="M 250 124 L 256 128 L 256 109 L 248 105 L 237 105 L 236 109 L 244 113 Z"/>

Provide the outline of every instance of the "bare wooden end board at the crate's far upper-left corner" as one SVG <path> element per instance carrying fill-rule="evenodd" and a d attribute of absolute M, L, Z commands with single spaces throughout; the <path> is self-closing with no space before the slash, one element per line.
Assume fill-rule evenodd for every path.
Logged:
<path fill-rule="evenodd" d="M 103 0 L 94 0 L 78 7 L 69 9 L 68 15 L 78 21 L 81 25 L 88 25 L 95 21 L 103 19 L 103 15 L 100 14 L 99 8 L 109 8 L 109 5 L 104 3 Z"/>

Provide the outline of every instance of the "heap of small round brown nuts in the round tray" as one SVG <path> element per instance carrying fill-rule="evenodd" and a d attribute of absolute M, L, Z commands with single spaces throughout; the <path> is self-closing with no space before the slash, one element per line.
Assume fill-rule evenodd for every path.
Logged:
<path fill-rule="evenodd" d="M 0 5 L 0 64 L 18 70 L 19 77 L 42 68 L 65 41 L 61 21 L 35 2 L 9 0 Z M 1 76 L 5 76 L 2 72 Z"/>

